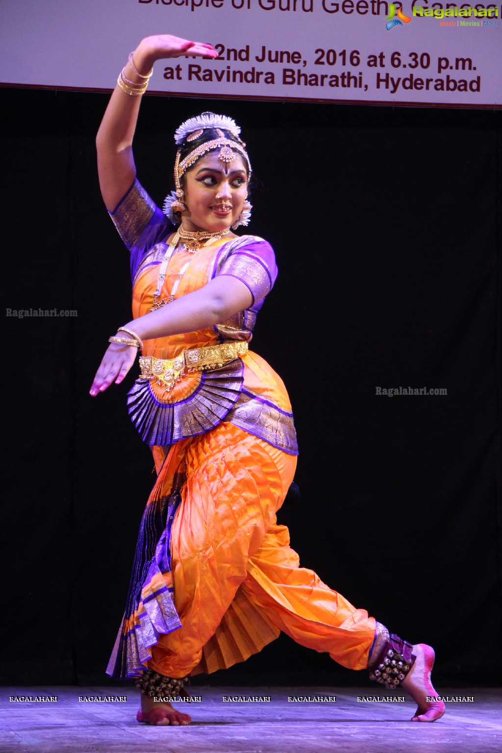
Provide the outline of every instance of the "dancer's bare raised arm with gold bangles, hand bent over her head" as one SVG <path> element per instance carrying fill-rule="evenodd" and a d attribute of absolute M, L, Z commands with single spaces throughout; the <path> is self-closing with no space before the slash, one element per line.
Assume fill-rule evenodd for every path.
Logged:
<path fill-rule="evenodd" d="M 211 44 L 160 34 L 142 39 L 124 66 L 121 74 L 123 88 L 117 83 L 96 136 L 99 186 L 110 211 L 117 206 L 136 175 L 132 139 L 142 85 L 148 81 L 156 60 L 183 55 L 218 57 L 218 52 Z"/>

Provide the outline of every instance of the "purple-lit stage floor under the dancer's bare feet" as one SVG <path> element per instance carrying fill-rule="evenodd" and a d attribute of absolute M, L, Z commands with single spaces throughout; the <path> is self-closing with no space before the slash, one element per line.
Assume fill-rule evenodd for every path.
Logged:
<path fill-rule="evenodd" d="M 434 724 L 409 721 L 415 706 L 357 700 L 391 697 L 375 687 L 192 686 L 190 727 L 138 724 L 131 687 L 2 687 L 2 753 L 478 753 L 502 750 L 502 690 L 441 691 L 473 700 L 446 703 Z M 470 695 L 468 695 L 470 694 Z M 402 697 L 397 692 L 395 697 Z M 57 697 L 18 701 L 11 697 Z M 105 697 L 121 700 L 79 700 Z M 224 700 L 224 698 L 262 700 Z M 307 697 L 312 700 L 288 700 Z M 336 697 L 336 700 L 329 700 Z M 263 700 L 268 699 L 270 700 Z M 323 698 L 327 700 L 314 700 Z"/>

